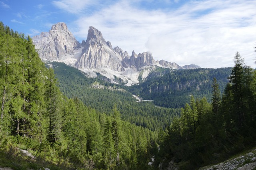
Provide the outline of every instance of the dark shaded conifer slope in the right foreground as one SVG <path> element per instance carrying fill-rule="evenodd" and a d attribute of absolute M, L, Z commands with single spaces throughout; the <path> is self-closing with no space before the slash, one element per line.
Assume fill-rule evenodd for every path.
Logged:
<path fill-rule="evenodd" d="M 244 65 L 238 52 L 234 63 L 222 98 L 214 78 L 211 103 L 192 96 L 181 116 L 162 131 L 162 166 L 172 160 L 182 169 L 195 169 L 255 147 L 256 72 Z"/>

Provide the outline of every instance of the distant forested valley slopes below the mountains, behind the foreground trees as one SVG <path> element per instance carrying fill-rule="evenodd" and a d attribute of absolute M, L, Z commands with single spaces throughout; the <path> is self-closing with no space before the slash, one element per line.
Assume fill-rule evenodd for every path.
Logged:
<path fill-rule="evenodd" d="M 220 90 L 223 92 L 231 72 L 231 68 L 171 72 L 170 69 L 158 68 L 146 82 L 126 87 L 111 84 L 100 74 L 97 78 L 87 78 L 80 70 L 64 63 L 53 62 L 50 65 L 56 73 L 60 89 L 69 98 L 76 96 L 86 106 L 106 114 L 110 113 L 114 104 L 118 104 L 117 109 L 123 120 L 152 130 L 165 129 L 170 125 L 172 118 L 180 115 L 180 107 L 190 100 L 191 95 L 196 98 L 206 96 L 210 101 L 213 77 L 219 78 Z M 177 84 L 179 89 L 176 89 Z M 132 94 L 153 102 L 136 103 Z"/>

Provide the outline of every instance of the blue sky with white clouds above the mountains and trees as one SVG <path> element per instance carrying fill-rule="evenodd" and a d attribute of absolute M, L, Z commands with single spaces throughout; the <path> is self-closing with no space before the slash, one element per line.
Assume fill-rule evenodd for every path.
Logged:
<path fill-rule="evenodd" d="M 65 22 L 79 42 L 88 28 L 129 55 L 204 68 L 256 67 L 256 0 L 0 0 L 0 21 L 25 35 Z"/>

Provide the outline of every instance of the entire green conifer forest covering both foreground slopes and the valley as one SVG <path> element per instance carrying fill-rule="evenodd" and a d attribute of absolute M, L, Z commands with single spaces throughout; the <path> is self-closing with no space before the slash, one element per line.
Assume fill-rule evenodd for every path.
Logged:
<path fill-rule="evenodd" d="M 171 71 L 128 88 L 49 68 L 29 36 L 0 22 L 0 167 L 197 169 L 255 147 L 255 102 L 256 72 L 239 52 L 232 68 Z"/>

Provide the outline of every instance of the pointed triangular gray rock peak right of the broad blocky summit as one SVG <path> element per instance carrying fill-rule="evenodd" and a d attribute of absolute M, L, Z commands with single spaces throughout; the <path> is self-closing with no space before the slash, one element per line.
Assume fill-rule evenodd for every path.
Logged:
<path fill-rule="evenodd" d="M 111 43 L 105 41 L 102 33 L 98 29 L 90 26 L 82 55 L 76 62 L 76 67 L 82 69 L 93 68 L 96 70 L 109 68 L 122 72 L 124 68 L 120 58 L 122 57 L 114 51 Z"/>

